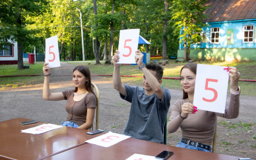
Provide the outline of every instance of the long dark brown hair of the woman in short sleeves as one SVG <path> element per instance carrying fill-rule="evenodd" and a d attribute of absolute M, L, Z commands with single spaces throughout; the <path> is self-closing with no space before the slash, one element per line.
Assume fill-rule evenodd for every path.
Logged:
<path fill-rule="evenodd" d="M 91 92 L 91 93 L 93 93 L 93 95 L 95 95 L 95 93 L 93 92 L 92 83 L 91 83 L 92 80 L 91 80 L 90 69 L 88 67 L 86 67 L 85 65 L 78 65 L 76 68 L 74 68 L 73 72 L 75 72 L 75 70 L 78 70 L 85 77 L 88 78 L 88 81 L 85 82 L 85 88 L 88 92 Z M 74 89 L 74 92 L 77 92 L 77 87 Z M 95 97 L 97 97 L 97 96 L 95 95 Z"/>

